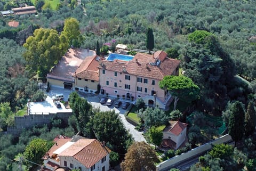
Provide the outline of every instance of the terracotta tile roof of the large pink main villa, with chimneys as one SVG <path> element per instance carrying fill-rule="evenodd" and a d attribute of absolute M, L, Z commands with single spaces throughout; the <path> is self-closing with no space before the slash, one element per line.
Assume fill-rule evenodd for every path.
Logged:
<path fill-rule="evenodd" d="M 159 54 L 164 56 L 166 53 L 159 51 Z M 104 60 L 101 62 L 99 68 L 116 72 L 123 72 L 123 68 L 125 68 L 126 73 L 130 75 L 162 80 L 164 76 L 172 75 L 180 64 L 180 60 L 170 59 L 166 56 L 163 62 L 159 61 L 158 65 L 154 65 L 154 62 L 156 62 L 156 59 L 153 58 L 153 55 L 137 53 L 134 58 L 128 62 L 121 60 L 115 60 L 114 62 Z"/>

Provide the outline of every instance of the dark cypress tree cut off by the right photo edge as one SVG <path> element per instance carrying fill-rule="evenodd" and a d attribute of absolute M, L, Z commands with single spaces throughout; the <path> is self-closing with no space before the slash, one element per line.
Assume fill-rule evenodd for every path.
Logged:
<path fill-rule="evenodd" d="M 254 109 L 253 102 L 250 101 L 247 107 L 247 112 L 245 113 L 244 120 L 244 133 L 249 136 L 254 133 L 256 126 L 256 113 Z"/>

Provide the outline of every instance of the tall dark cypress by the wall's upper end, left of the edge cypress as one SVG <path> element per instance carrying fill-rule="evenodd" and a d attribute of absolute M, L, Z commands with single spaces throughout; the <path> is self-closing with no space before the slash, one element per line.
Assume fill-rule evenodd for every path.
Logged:
<path fill-rule="evenodd" d="M 236 101 L 230 109 L 230 117 L 228 123 L 228 133 L 236 142 L 241 140 L 244 135 L 244 109 L 241 102 Z"/>

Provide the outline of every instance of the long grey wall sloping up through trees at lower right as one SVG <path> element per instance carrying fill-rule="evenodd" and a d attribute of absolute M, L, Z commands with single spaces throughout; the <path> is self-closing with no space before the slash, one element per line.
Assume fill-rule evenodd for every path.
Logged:
<path fill-rule="evenodd" d="M 169 170 L 170 168 L 177 166 L 178 164 L 180 164 L 183 161 L 187 161 L 199 154 L 203 154 L 203 153 L 211 150 L 213 145 L 228 143 L 230 141 L 232 141 L 232 139 L 229 134 L 223 135 L 223 136 L 219 137 L 219 139 L 216 139 L 216 140 L 213 140 L 204 145 L 198 146 L 195 149 L 192 149 L 186 153 L 180 154 L 180 156 L 175 156 L 173 158 L 170 158 L 166 161 L 161 162 L 161 164 L 156 166 L 156 171 Z"/>

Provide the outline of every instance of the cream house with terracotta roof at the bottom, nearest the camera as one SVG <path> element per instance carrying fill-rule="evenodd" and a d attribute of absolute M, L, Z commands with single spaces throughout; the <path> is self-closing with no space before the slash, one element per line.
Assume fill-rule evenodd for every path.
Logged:
<path fill-rule="evenodd" d="M 50 170 L 57 168 L 80 169 L 81 171 L 109 170 L 110 150 L 95 139 L 54 139 L 55 144 L 44 156 L 44 166 Z"/>

